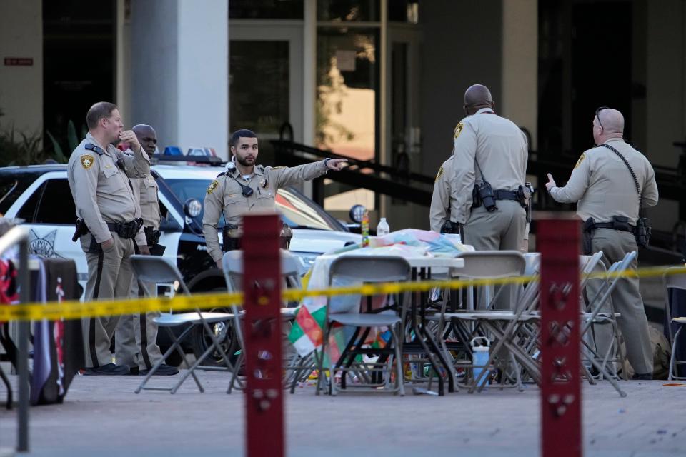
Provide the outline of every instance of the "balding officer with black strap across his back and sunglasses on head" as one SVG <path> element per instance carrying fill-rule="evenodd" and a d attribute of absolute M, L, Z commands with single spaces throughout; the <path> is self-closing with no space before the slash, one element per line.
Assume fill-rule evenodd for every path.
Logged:
<path fill-rule="evenodd" d="M 626 253 L 637 251 L 633 232 L 640 206 L 657 204 L 655 171 L 643 154 L 624 141 L 623 133 L 624 116 L 620 111 L 597 109 L 593 116 L 597 146 L 581 154 L 567 186 L 557 187 L 551 174 L 545 184 L 555 201 L 578 202 L 577 216 L 585 221 L 585 253 L 602 251 L 607 267 Z M 636 266 L 634 260 L 630 267 Z M 620 279 L 612 292 L 612 303 L 621 315 L 617 323 L 634 378 L 652 379 L 652 348 L 638 278 Z"/>

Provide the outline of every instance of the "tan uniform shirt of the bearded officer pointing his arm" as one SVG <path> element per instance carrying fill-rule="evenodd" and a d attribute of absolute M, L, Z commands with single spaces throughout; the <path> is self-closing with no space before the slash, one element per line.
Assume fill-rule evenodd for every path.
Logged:
<path fill-rule="evenodd" d="M 217 176 L 207 189 L 202 216 L 202 233 L 207 243 L 207 252 L 214 261 L 222 260 L 217 224 L 224 214 L 227 224 L 242 226 L 242 216 L 255 210 L 274 210 L 277 190 L 283 186 L 322 176 L 327 172 L 324 161 L 293 167 L 256 165 L 250 179 L 243 179 L 237 168 Z M 240 183 L 240 184 L 239 184 Z M 252 189 L 252 195 L 243 196 L 241 184 Z"/>

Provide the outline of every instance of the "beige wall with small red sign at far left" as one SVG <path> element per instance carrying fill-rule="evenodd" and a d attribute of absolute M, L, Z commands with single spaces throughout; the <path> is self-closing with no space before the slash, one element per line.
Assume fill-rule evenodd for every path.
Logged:
<path fill-rule="evenodd" d="M 6 59 L 21 59 L 10 60 Z M 43 129 L 43 4 L 0 1 L 0 126 L 25 134 Z"/>

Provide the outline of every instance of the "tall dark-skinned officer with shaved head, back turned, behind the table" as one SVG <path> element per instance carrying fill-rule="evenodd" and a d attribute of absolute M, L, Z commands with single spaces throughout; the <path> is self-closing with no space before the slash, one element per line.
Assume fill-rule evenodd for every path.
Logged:
<path fill-rule="evenodd" d="M 467 117 L 454 130 L 450 220 L 462 226 L 463 242 L 477 251 L 518 251 L 526 225 L 518 189 L 525 184 L 527 139 L 515 123 L 495 114 L 494 106 L 486 86 L 464 92 Z M 483 198 L 489 195 L 486 183 L 491 200 Z M 481 201 L 472 198 L 475 185 L 482 188 Z"/>

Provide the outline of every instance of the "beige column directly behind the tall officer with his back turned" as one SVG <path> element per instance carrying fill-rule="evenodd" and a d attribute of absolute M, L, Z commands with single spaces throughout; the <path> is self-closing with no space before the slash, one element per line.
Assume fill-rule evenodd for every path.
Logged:
<path fill-rule="evenodd" d="M 499 103 L 499 107 L 498 107 Z M 496 110 L 531 134 L 538 115 L 538 2 L 502 0 L 502 99 Z"/>

